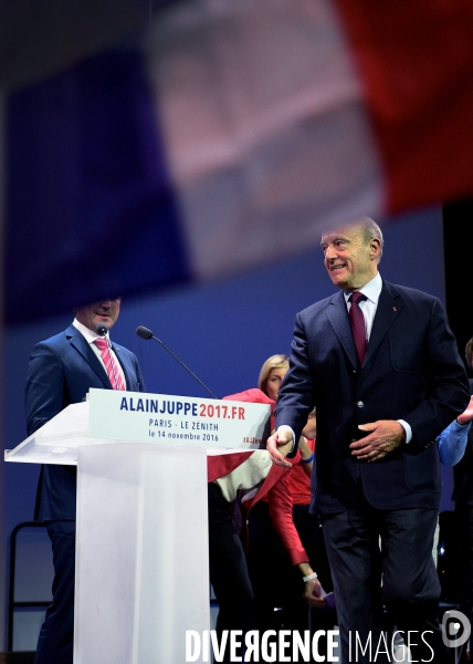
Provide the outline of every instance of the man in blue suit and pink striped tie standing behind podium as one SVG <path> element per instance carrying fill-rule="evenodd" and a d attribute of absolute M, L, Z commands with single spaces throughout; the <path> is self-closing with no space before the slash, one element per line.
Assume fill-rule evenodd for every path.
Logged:
<path fill-rule="evenodd" d="M 91 387 L 144 392 L 136 356 L 112 344 L 108 332 L 105 336 L 97 333 L 97 329 L 108 331 L 113 326 L 119 307 L 119 298 L 81 307 L 67 330 L 33 349 L 25 393 L 28 435 L 70 404 L 83 402 Z M 48 525 L 54 582 L 53 601 L 41 629 L 35 664 L 72 664 L 73 661 L 75 506 L 75 466 L 42 466 L 35 518 Z"/>

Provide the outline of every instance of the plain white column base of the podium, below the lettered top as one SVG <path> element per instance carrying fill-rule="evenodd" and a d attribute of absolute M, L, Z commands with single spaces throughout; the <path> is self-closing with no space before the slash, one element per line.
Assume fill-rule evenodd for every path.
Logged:
<path fill-rule="evenodd" d="M 74 664 L 176 664 L 210 625 L 207 452 L 83 446 Z"/>

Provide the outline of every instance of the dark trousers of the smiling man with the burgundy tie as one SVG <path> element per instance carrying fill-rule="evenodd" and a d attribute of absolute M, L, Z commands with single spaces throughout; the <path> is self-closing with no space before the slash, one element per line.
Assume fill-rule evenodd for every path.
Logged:
<path fill-rule="evenodd" d="M 433 509 L 379 510 L 362 497 L 356 507 L 324 516 L 343 662 L 392 657 L 382 609 L 388 624 L 403 633 L 404 643 L 409 641 L 412 661 L 451 662 L 437 614 L 440 583 L 432 558 L 437 521 Z M 377 587 L 382 591 L 381 606 L 374 592 Z"/>

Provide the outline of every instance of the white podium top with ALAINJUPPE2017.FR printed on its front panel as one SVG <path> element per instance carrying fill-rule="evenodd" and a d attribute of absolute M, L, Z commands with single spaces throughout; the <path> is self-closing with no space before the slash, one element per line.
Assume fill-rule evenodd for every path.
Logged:
<path fill-rule="evenodd" d="M 6 461 L 77 464 L 80 445 L 166 443 L 208 448 L 255 449 L 270 433 L 266 404 L 91 390 L 14 449 Z"/>

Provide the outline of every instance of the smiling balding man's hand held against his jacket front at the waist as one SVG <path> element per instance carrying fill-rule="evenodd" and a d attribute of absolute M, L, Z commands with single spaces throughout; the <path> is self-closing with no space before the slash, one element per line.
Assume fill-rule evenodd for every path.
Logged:
<path fill-rule="evenodd" d="M 368 436 L 350 444 L 351 454 L 364 461 L 378 461 L 406 440 L 404 427 L 393 419 L 378 419 L 360 424 Z"/>

